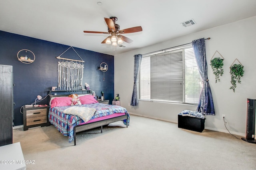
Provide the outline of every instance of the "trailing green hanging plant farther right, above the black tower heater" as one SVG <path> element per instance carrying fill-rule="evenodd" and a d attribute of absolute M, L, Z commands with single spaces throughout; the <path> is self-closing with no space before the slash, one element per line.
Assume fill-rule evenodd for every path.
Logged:
<path fill-rule="evenodd" d="M 233 92 L 235 92 L 236 82 L 241 83 L 240 79 L 244 76 L 244 66 L 241 64 L 234 64 L 230 66 L 230 75 L 232 86 L 229 89 L 232 89 Z"/>

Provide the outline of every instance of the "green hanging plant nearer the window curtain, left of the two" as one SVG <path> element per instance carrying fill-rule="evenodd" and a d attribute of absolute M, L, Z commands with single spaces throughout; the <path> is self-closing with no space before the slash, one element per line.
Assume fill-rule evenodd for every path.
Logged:
<path fill-rule="evenodd" d="M 212 71 L 213 74 L 215 75 L 215 83 L 217 81 L 220 82 L 220 76 L 223 75 L 223 59 L 218 58 L 214 58 L 210 61 L 210 65 L 212 66 Z"/>

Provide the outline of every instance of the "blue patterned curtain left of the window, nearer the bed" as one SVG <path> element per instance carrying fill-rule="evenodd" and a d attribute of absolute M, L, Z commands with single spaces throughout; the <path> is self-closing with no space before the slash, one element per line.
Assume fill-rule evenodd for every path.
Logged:
<path fill-rule="evenodd" d="M 139 72 L 140 72 L 141 59 L 142 59 L 141 54 L 134 55 L 134 84 L 133 84 L 131 106 L 138 105 L 138 94 L 139 94 L 138 78 L 139 78 Z"/>

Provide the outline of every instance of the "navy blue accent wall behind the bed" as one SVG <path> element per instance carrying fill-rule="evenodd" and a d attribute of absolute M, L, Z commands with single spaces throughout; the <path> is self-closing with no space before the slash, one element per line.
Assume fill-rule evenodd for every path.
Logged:
<path fill-rule="evenodd" d="M 58 86 L 59 59 L 56 57 L 69 47 L 68 45 L 0 31 L 0 64 L 13 66 L 15 126 L 23 124 L 23 115 L 20 113 L 22 106 L 32 104 L 37 95 L 44 98 L 48 91 L 52 90 L 52 86 Z M 24 64 L 18 61 L 17 53 L 22 49 L 28 49 L 35 54 L 36 59 L 33 63 Z M 94 90 L 99 97 L 101 96 L 100 92 L 104 91 L 105 99 L 110 100 L 111 104 L 114 98 L 114 56 L 76 47 L 74 49 L 85 61 L 83 86 L 88 83 L 90 89 Z M 80 60 L 72 48 L 61 57 Z M 103 72 L 98 70 L 102 62 L 108 64 L 104 81 Z M 1 100 L 4 100 L 4 96 L 1 96 Z M 48 102 L 49 98 L 47 97 L 38 104 L 48 104 Z"/>

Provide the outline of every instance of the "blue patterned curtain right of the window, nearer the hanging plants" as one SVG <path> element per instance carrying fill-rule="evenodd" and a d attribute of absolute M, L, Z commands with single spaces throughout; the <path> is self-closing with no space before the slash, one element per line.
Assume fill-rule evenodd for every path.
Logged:
<path fill-rule="evenodd" d="M 212 92 L 207 76 L 207 63 L 204 38 L 192 41 L 192 47 L 194 49 L 199 73 L 203 79 L 203 88 L 200 94 L 197 111 L 205 115 L 215 115 Z"/>

